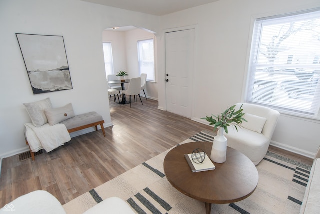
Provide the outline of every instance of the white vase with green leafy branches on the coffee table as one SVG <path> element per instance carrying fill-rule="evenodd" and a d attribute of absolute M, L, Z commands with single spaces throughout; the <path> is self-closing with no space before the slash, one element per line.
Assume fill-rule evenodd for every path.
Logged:
<path fill-rule="evenodd" d="M 210 125 L 214 125 L 213 132 L 219 128 L 218 135 L 214 137 L 213 146 L 211 150 L 211 160 L 216 163 L 223 163 L 226 160 L 226 146 L 227 146 L 227 139 L 223 135 L 228 133 L 228 126 L 233 125 L 238 131 L 239 124 L 243 121 L 247 122 L 244 118 L 242 113 L 242 105 L 240 106 L 239 110 L 235 111 L 235 105 L 231 106 L 230 108 L 226 109 L 224 112 L 218 114 L 217 116 L 213 115 L 208 117 L 203 117 L 201 119 L 205 119 L 206 121 L 210 122 Z"/>

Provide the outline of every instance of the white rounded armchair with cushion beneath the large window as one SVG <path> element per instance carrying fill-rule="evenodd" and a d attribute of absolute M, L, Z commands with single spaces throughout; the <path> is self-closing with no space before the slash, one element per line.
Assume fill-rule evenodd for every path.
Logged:
<path fill-rule="evenodd" d="M 228 128 L 227 145 L 245 154 L 254 165 L 265 156 L 277 124 L 280 113 L 274 109 L 249 104 L 237 103 L 235 110 L 243 104 L 244 118 L 248 122 L 243 122 L 238 132 L 234 127 Z"/>

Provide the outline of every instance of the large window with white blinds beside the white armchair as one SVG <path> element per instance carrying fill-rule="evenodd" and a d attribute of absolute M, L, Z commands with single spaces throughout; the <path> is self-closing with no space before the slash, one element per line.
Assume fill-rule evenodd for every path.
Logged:
<path fill-rule="evenodd" d="M 257 19 L 246 101 L 294 115 L 316 116 L 319 60 L 320 11 Z"/>

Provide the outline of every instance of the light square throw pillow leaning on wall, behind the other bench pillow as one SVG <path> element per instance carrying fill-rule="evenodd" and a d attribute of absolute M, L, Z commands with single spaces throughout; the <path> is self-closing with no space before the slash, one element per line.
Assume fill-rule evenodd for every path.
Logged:
<path fill-rule="evenodd" d="M 52 108 L 50 98 L 32 103 L 23 103 L 23 105 L 25 106 L 34 126 L 40 127 L 48 122 L 48 119 L 44 113 L 44 109 Z"/>

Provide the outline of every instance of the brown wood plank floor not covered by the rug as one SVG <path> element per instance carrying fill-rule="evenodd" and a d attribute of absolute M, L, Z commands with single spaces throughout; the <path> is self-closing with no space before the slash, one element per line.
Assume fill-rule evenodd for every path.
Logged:
<path fill-rule="evenodd" d="M 110 101 L 112 127 L 106 137 L 96 131 L 74 137 L 52 152 L 19 161 L 18 155 L 4 158 L 0 177 L 0 207 L 34 190 L 47 190 L 61 204 L 141 164 L 190 136 L 211 130 L 157 109 L 158 102 L 142 98 L 130 105 Z M 287 151 L 270 150 L 301 162 L 312 160 Z"/>

